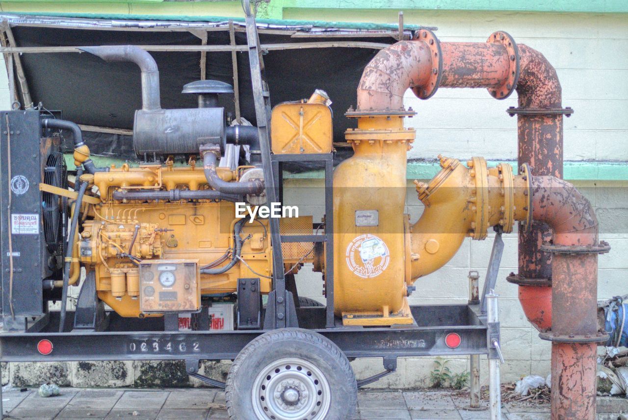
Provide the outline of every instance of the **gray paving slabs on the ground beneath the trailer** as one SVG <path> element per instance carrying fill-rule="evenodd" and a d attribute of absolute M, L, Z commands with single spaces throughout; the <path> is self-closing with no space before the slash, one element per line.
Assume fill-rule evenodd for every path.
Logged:
<path fill-rule="evenodd" d="M 42 398 L 36 390 L 29 389 L 4 392 L 3 404 L 7 419 L 229 419 L 225 394 L 215 389 L 62 388 L 60 396 L 49 398 Z M 360 391 L 355 420 L 489 419 L 489 411 L 467 411 L 467 405 L 467 398 L 447 391 Z M 610 413 L 620 409 L 618 407 L 616 401 L 600 399 L 598 412 L 601 408 L 602 414 L 598 414 L 598 419 L 617 419 L 617 414 Z M 503 418 L 508 420 L 549 419 L 548 404 L 538 402 L 506 403 L 502 412 Z"/>

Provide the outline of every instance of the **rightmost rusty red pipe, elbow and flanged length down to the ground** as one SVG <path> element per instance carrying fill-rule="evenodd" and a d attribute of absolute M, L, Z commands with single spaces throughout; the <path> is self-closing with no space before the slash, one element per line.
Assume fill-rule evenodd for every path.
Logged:
<path fill-rule="evenodd" d="M 595 419 L 598 223 L 593 207 L 569 182 L 532 180 L 533 218 L 553 230 L 551 340 L 552 419 Z"/>

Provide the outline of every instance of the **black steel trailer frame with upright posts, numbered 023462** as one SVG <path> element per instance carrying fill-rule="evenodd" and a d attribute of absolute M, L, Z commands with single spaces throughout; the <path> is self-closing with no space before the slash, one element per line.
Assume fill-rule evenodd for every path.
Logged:
<path fill-rule="evenodd" d="M 248 4 L 248 2 L 244 2 Z M 2 362 L 52 362 L 83 360 L 185 360 L 188 374 L 212 386 L 224 387 L 223 382 L 198 374 L 201 360 L 234 359 L 242 348 L 257 336 L 274 328 L 300 327 L 318 332 L 332 340 L 352 358 L 377 357 L 383 359 L 380 374 L 360 379 L 358 386 L 377 381 L 396 370 L 398 357 L 487 355 L 489 359 L 501 359 L 499 350 L 499 322 L 487 322 L 486 297 L 495 287 L 497 270 L 504 243 L 501 231 L 497 231 L 493 252 L 489 261 L 484 290 L 477 289 L 477 276 L 471 282 L 470 300 L 467 305 L 412 305 L 415 322 L 412 325 L 393 327 L 344 326 L 333 312 L 333 202 L 332 202 L 332 154 L 320 155 L 271 155 L 269 145 L 269 93 L 263 78 L 263 61 L 257 39 L 254 18 L 247 16 L 249 60 L 255 92 L 257 122 L 261 139 L 264 176 L 268 200 L 281 201 L 283 194 L 283 162 L 315 160 L 325 165 L 325 233 L 305 236 L 281 236 L 277 219 L 271 219 L 273 243 L 323 242 L 327 251 L 327 306 L 298 307 L 292 293 L 286 290 L 283 275 L 281 246 L 273 246 L 273 291 L 265 310 L 264 329 L 233 331 L 186 331 L 168 328 L 171 320 L 164 318 L 131 319 L 116 313 L 103 314 L 102 308 L 94 307 L 94 317 L 101 317 L 100 328 L 73 329 L 75 318 L 68 312 L 67 330 L 59 333 L 60 314 L 48 312 L 31 323 L 26 332 L 0 333 L 0 361 Z M 3 137 L 4 140 L 4 137 Z M 278 200 L 279 199 L 279 200 Z M 276 223 L 273 223 L 275 221 Z M 461 279 L 462 280 L 462 279 Z M 87 292 L 86 292 L 87 293 Z M 5 314 L 7 310 L 3 311 Z M 296 317 L 294 315 L 296 315 Z M 166 326 L 166 328 L 165 328 Z M 446 337 L 452 333 L 460 337 L 460 344 L 450 347 Z M 52 344 L 50 354 L 38 350 L 41 340 Z M 499 387 L 499 384 L 496 384 Z M 495 386 L 495 384 L 492 384 Z M 472 389 L 473 392 L 473 389 Z M 0 396 L 1 409 L 1 396 Z M 1 412 L 1 411 L 0 411 Z"/>

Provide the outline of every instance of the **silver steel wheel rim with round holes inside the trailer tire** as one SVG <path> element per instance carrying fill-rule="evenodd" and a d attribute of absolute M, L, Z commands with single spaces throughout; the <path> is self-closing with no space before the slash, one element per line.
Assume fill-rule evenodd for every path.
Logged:
<path fill-rule="evenodd" d="M 329 411 L 331 391 L 323 372 L 303 359 L 275 360 L 257 375 L 253 409 L 263 420 L 322 420 Z"/>

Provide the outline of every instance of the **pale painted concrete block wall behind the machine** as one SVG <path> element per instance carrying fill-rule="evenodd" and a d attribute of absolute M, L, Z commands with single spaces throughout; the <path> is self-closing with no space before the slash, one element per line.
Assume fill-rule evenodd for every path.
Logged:
<path fill-rule="evenodd" d="M 303 10 L 287 9 L 285 18 L 310 19 Z M 310 12 L 311 13 L 311 10 Z M 329 21 L 393 22 L 392 11 L 316 10 L 317 19 Z M 497 29 L 505 30 L 519 43 L 542 51 L 555 65 L 563 86 L 563 105 L 575 109 L 565 119 L 566 160 L 628 161 L 628 24 L 625 16 L 614 14 L 551 14 L 506 12 L 405 11 L 406 23 L 438 26 L 443 41 L 484 41 Z M 0 68 L 3 64 L 0 63 Z M 0 71 L 0 104 L 9 106 L 6 74 Z M 321 87 L 324 88 L 324 87 Z M 333 98 L 332 98 L 333 100 Z M 506 108 L 516 105 L 516 95 L 504 101 L 490 98 L 484 90 L 441 89 L 430 101 L 411 93 L 406 105 L 418 115 L 408 124 L 417 130 L 410 159 L 433 159 L 439 153 L 467 159 L 483 155 L 491 160 L 516 159 L 516 120 Z M 627 293 L 628 276 L 628 181 L 575 182 L 592 201 L 600 221 L 601 239 L 612 252 L 600 256 L 598 297 L 605 299 Z M 286 204 L 297 204 L 301 214 L 323 214 L 322 181 L 290 179 Z M 408 206 L 414 222 L 422 212 L 416 192 L 408 182 Z M 521 375 L 549 373 L 550 345 L 524 317 L 517 300 L 517 288 L 505 278 L 517 268 L 516 233 L 504 236 L 506 247 L 497 282 L 500 295 L 502 344 L 506 364 L 502 380 L 515 381 Z M 464 303 L 468 296 L 469 270 L 480 272 L 483 280 L 492 237 L 485 241 L 465 240 L 457 255 L 440 271 L 417 281 L 411 303 Z M 480 284 L 481 288 L 482 284 Z M 298 275 L 301 295 L 324 302 L 320 273 L 305 266 Z M 468 369 L 467 358 L 450 360 L 457 372 Z M 352 362 L 357 377 L 381 371 L 379 359 Z M 203 365 L 203 371 L 224 378 L 229 364 Z M 482 364 L 482 380 L 487 378 Z M 73 386 L 200 386 L 185 377 L 176 362 L 72 362 L 67 364 L 11 364 L 3 366 L 3 384 L 16 386 L 55 380 Z M 400 359 L 398 371 L 372 387 L 421 387 L 430 384 L 434 360 Z"/>

